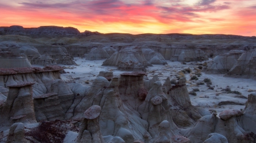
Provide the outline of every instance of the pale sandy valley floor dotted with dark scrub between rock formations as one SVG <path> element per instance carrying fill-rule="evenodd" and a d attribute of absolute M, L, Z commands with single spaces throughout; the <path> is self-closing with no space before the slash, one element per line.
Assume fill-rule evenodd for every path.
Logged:
<path fill-rule="evenodd" d="M 85 60 L 83 58 L 75 58 L 77 65 L 65 66 L 64 74 L 61 78 L 66 82 L 77 82 L 84 85 L 90 85 L 100 71 L 112 71 L 114 76 L 118 76 L 123 72 L 119 71 L 117 67 L 101 66 L 104 60 Z M 208 110 L 215 110 L 217 112 L 226 109 L 241 110 L 245 107 L 247 95 L 256 92 L 256 81 L 251 79 L 238 79 L 232 77 L 224 77 L 224 75 L 208 75 L 201 72 L 201 76 L 197 77 L 199 80 L 190 80 L 191 76 L 195 75 L 195 67 L 198 67 L 203 62 L 188 62 L 181 64 L 180 62 L 167 61 L 168 65 L 153 65 L 147 68 L 148 79 L 151 79 L 155 74 L 158 75 L 159 80 L 164 83 L 169 76 L 170 79 L 177 79 L 177 75 L 181 70 L 190 68 L 191 73 L 186 72 L 184 76 L 187 79 L 188 92 L 198 88 L 200 92 L 196 92 L 196 96 L 189 94 L 192 105 L 204 107 Z M 212 89 L 209 89 L 206 84 L 197 85 L 196 83 L 208 78 L 212 81 Z M 241 95 L 228 93 L 223 91 L 227 86 L 234 91 L 238 91 Z M 220 105 L 220 102 L 230 101 L 232 103 Z"/>

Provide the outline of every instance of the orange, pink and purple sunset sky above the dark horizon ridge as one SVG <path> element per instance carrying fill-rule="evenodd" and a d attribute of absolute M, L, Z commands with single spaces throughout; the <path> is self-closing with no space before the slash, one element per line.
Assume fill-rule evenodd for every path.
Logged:
<path fill-rule="evenodd" d="M 0 0 L 0 26 L 256 36 L 255 0 Z"/>

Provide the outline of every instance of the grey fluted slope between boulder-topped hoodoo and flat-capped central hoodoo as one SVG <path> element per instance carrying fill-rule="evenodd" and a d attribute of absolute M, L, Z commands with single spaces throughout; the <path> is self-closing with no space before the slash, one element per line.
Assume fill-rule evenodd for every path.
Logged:
<path fill-rule="evenodd" d="M 113 78 L 109 87 L 104 90 L 100 106 L 100 126 L 103 136 L 119 136 L 125 142 L 144 140 L 152 142 L 147 132 L 148 123 L 141 119 L 139 113 L 122 103 L 118 92 L 118 79 Z"/>

